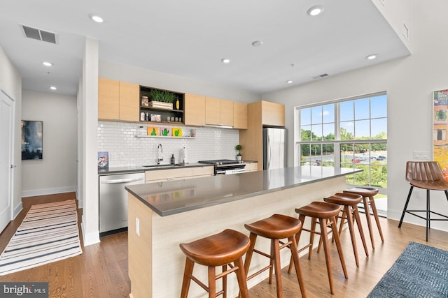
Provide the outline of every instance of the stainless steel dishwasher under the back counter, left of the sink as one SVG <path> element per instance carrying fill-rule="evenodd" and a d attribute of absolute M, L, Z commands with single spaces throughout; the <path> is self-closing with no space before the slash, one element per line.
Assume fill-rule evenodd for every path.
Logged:
<path fill-rule="evenodd" d="M 127 191 L 125 186 L 144 184 L 145 174 L 111 174 L 99 177 L 99 233 L 110 234 L 127 228 Z"/>

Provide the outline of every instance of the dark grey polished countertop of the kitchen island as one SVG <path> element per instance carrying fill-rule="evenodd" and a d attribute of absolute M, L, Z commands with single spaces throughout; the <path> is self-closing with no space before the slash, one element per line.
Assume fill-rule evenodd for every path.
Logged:
<path fill-rule="evenodd" d="M 362 172 L 362 170 L 319 166 L 285 167 L 138 184 L 125 186 L 125 189 L 160 216 L 169 216 L 356 172 Z"/>

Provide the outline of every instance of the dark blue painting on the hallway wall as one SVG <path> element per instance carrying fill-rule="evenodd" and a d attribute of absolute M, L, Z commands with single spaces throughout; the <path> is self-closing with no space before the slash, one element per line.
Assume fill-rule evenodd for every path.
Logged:
<path fill-rule="evenodd" d="M 42 159 L 42 121 L 22 120 L 22 160 Z"/>

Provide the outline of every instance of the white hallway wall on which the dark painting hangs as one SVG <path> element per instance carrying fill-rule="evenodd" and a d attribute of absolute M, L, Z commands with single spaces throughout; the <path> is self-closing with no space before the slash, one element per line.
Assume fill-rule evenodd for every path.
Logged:
<path fill-rule="evenodd" d="M 23 91 L 22 120 L 43 121 L 43 159 L 22 161 L 22 197 L 76 190 L 76 97 Z"/>

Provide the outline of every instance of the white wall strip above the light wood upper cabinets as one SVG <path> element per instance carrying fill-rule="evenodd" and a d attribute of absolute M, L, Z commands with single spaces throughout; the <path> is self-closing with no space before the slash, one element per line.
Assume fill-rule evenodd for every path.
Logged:
<path fill-rule="evenodd" d="M 200 94 L 241 103 L 252 103 L 261 96 L 248 91 L 226 88 L 216 84 L 208 84 L 188 77 L 179 77 L 154 70 L 118 64 L 111 61 L 99 61 L 99 77 L 119 80 L 147 87 L 167 89 L 181 93 Z"/>

